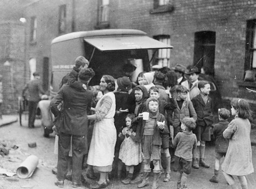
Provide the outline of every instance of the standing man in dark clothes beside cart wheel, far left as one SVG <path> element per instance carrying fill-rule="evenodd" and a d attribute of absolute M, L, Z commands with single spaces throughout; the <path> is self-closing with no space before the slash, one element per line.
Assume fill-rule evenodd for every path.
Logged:
<path fill-rule="evenodd" d="M 28 91 L 27 99 L 29 105 L 29 128 L 34 128 L 35 114 L 38 102 L 41 100 L 41 95 L 45 94 L 42 83 L 41 76 L 38 72 L 33 73 L 34 79 L 26 84 L 22 91 L 22 96 L 25 96 L 26 91 Z"/>

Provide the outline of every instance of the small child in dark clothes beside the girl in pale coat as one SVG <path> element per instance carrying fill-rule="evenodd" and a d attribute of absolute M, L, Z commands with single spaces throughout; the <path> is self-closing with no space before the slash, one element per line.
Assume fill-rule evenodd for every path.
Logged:
<path fill-rule="evenodd" d="M 219 122 L 214 125 L 213 137 L 215 138 L 215 168 L 214 176 L 210 179 L 210 182 L 218 183 L 218 171 L 220 167 L 221 157 L 225 157 L 229 144 L 228 139 L 224 139 L 223 131 L 227 128 L 229 122 L 227 119 L 230 116 L 230 111 L 226 108 L 218 110 Z"/>

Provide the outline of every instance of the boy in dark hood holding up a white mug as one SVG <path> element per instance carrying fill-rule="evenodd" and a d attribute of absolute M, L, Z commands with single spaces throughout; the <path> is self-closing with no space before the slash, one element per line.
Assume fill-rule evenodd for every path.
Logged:
<path fill-rule="evenodd" d="M 149 185 L 149 173 L 151 172 L 150 163 L 153 160 L 154 164 L 154 180 L 151 189 L 158 188 L 158 180 L 160 174 L 160 149 L 162 145 L 162 139 L 160 133 L 168 133 L 166 125 L 166 119 L 163 114 L 158 111 L 158 100 L 154 97 L 150 97 L 146 100 L 146 108 L 149 113 L 148 119 L 142 119 L 143 113 L 139 113 L 136 118 L 131 122 L 132 125 L 136 125 L 136 136 L 130 133 L 131 139 L 135 142 L 141 142 L 143 150 L 144 161 L 144 174 L 143 181 L 138 188 L 143 188 Z"/>

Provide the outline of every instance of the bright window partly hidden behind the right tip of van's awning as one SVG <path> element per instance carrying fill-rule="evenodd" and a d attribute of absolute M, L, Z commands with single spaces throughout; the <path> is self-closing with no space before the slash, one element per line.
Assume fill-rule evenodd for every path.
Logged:
<path fill-rule="evenodd" d="M 171 45 L 170 35 L 157 35 L 154 36 L 154 39 L 161 41 L 165 44 Z M 171 49 L 158 49 L 155 64 L 158 64 L 161 67 L 170 67 L 170 54 Z"/>

